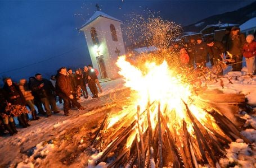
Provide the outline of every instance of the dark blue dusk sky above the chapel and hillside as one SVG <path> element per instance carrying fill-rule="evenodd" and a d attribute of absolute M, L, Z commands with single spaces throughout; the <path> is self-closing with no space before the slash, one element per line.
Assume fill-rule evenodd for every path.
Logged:
<path fill-rule="evenodd" d="M 78 68 L 91 63 L 84 34 L 78 28 L 93 15 L 96 3 L 102 12 L 122 21 L 132 12 L 145 15 L 152 11 L 185 26 L 252 2 L 0 1 L 0 77 L 17 81 L 42 73 L 48 78 L 61 66 Z"/>

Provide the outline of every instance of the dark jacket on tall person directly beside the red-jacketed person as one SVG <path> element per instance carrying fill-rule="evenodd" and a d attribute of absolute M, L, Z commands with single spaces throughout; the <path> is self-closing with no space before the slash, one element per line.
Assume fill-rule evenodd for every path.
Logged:
<path fill-rule="evenodd" d="M 245 44 L 245 36 L 239 33 L 233 36 L 232 33 L 228 36 L 227 40 L 227 51 L 233 55 L 242 55 L 242 48 Z"/>

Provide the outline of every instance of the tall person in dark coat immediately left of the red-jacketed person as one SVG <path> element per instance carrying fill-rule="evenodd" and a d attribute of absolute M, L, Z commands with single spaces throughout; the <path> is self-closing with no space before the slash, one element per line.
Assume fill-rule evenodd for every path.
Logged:
<path fill-rule="evenodd" d="M 242 48 L 245 44 L 245 36 L 240 33 L 239 27 L 232 27 L 230 36 L 227 40 L 227 52 L 232 54 L 235 63 L 232 64 L 232 71 L 241 71 L 242 69 Z"/>

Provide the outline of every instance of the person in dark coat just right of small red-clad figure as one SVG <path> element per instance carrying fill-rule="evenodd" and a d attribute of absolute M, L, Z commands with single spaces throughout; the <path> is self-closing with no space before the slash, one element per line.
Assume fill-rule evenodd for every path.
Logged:
<path fill-rule="evenodd" d="M 207 45 L 203 42 L 203 39 L 198 38 L 197 44 L 195 45 L 195 63 L 201 64 L 206 67 L 206 60 L 207 60 Z"/>

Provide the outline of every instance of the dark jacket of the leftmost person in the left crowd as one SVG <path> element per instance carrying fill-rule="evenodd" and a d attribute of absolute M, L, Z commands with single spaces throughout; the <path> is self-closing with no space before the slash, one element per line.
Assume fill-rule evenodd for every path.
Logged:
<path fill-rule="evenodd" d="M 11 86 L 5 84 L 3 86 L 3 94 L 5 95 L 8 102 L 13 105 L 26 105 L 25 97 L 20 91 L 20 88 L 15 83 L 12 83 Z"/>

